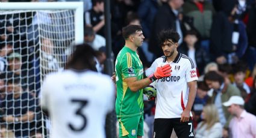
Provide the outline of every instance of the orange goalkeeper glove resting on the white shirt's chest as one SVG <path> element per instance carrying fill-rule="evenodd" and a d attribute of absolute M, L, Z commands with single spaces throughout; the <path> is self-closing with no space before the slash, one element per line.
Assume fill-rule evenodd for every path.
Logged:
<path fill-rule="evenodd" d="M 163 67 L 157 67 L 157 70 L 155 71 L 154 74 L 152 74 L 151 76 L 149 76 L 149 79 L 151 80 L 151 82 L 154 82 L 157 79 L 161 79 L 162 77 L 169 77 L 172 72 L 172 70 L 170 70 L 170 64 L 166 64 Z"/>

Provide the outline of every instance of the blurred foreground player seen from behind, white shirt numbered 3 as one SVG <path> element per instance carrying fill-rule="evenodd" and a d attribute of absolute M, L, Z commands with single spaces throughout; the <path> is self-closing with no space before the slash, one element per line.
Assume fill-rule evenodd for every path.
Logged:
<path fill-rule="evenodd" d="M 66 70 L 49 74 L 42 86 L 42 108 L 49 112 L 51 137 L 105 137 L 105 118 L 114 110 L 114 84 L 96 72 L 95 52 L 75 46 Z"/>

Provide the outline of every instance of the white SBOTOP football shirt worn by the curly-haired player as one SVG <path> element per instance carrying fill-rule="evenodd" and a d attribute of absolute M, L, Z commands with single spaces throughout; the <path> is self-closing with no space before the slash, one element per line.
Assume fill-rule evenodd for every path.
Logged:
<path fill-rule="evenodd" d="M 153 74 L 157 67 L 170 64 L 172 75 L 157 81 L 157 99 L 155 118 L 181 118 L 181 113 L 187 105 L 189 98 L 188 82 L 198 80 L 196 67 L 192 59 L 178 53 L 173 62 L 168 63 L 165 56 L 155 59 L 146 70 L 146 76 Z M 190 113 L 192 116 L 192 114 Z"/>

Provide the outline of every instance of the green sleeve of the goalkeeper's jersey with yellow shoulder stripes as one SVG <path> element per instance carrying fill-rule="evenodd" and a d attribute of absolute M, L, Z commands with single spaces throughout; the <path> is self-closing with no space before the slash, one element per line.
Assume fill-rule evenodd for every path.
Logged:
<path fill-rule="evenodd" d="M 122 61 L 120 62 L 121 64 L 121 70 L 123 74 L 123 78 L 126 79 L 128 77 L 136 77 L 136 63 L 133 60 L 133 57 L 131 56 L 131 53 L 126 53 Z"/>

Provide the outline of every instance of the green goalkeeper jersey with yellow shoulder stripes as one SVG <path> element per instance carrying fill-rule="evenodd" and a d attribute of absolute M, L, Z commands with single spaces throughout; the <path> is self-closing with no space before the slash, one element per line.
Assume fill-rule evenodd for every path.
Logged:
<path fill-rule="evenodd" d="M 116 58 L 116 115 L 117 118 L 126 118 L 142 115 L 144 109 L 143 89 L 133 92 L 128 88 L 124 79 L 137 77 L 143 79 L 143 65 L 139 55 L 130 48 L 124 46 Z"/>

